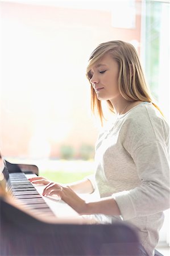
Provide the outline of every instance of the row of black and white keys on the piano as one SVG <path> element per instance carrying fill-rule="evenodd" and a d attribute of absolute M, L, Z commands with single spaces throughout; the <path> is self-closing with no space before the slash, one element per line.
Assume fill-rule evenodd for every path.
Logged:
<path fill-rule="evenodd" d="M 31 210 L 32 213 L 38 213 L 42 217 L 56 217 L 23 172 L 15 172 L 9 175 L 9 192 L 19 203 L 24 204 L 24 207 Z"/>

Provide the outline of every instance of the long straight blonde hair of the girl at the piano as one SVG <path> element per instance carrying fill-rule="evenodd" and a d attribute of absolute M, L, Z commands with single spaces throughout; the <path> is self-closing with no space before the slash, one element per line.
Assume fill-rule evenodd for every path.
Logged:
<path fill-rule="evenodd" d="M 120 40 L 101 43 L 94 49 L 89 57 L 89 64 L 86 70 L 86 76 L 90 82 L 90 69 L 106 53 L 109 53 L 118 63 L 118 88 L 122 97 L 127 101 L 147 101 L 152 102 L 150 90 L 144 79 L 142 67 L 139 61 L 138 53 L 132 44 Z M 91 84 L 91 82 L 90 82 Z M 113 105 L 107 100 L 109 109 L 114 112 Z M 160 111 L 159 107 L 152 104 Z M 104 118 L 101 101 L 98 100 L 96 92 L 91 84 L 91 108 L 94 114 L 98 114 L 101 122 Z M 161 113 L 162 114 L 162 113 Z"/>

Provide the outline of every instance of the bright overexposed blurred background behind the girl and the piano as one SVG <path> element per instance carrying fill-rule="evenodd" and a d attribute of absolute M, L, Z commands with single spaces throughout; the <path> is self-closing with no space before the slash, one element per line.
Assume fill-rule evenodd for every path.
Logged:
<path fill-rule="evenodd" d="M 109 40 L 135 46 L 169 122 L 169 11 L 169 1 L 1 1 L 2 155 L 63 183 L 93 173 L 99 122 L 85 73 Z"/>

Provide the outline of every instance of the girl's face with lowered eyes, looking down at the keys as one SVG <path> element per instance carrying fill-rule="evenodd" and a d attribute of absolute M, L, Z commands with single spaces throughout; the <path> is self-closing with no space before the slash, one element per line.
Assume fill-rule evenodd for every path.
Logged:
<path fill-rule="evenodd" d="M 106 53 L 90 69 L 90 82 L 97 94 L 98 100 L 114 101 L 120 95 L 118 89 L 118 63 Z"/>

